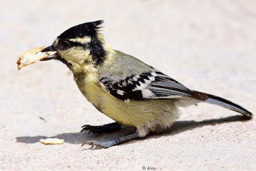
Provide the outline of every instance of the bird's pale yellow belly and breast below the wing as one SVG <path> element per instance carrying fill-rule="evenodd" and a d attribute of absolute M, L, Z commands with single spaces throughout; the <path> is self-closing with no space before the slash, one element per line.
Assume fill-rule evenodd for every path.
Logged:
<path fill-rule="evenodd" d="M 78 88 L 98 111 L 129 127 L 137 129 L 147 127 L 152 131 L 165 129 L 170 127 L 179 116 L 173 100 L 130 100 L 124 102 L 110 95 L 104 87 L 98 85 L 80 86 L 78 84 Z"/>

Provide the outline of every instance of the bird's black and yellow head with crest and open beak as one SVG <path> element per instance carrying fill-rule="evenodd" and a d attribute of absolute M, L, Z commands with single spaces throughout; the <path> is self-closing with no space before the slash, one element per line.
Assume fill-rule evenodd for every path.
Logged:
<path fill-rule="evenodd" d="M 99 33 L 104 21 L 86 22 L 73 26 L 60 34 L 51 46 L 42 51 L 56 51 L 44 60 L 57 59 L 73 73 L 92 69 L 104 62 L 111 48 Z"/>

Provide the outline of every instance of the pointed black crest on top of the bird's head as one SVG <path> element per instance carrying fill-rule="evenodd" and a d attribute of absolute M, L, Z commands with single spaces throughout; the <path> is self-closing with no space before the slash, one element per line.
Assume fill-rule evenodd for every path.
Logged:
<path fill-rule="evenodd" d="M 76 37 L 84 37 L 90 36 L 93 37 L 96 35 L 96 31 L 100 29 L 100 24 L 102 24 L 103 20 L 86 22 L 84 24 L 79 24 L 77 26 L 73 26 L 68 30 L 64 31 L 61 35 L 59 35 L 60 39 L 73 39 Z"/>

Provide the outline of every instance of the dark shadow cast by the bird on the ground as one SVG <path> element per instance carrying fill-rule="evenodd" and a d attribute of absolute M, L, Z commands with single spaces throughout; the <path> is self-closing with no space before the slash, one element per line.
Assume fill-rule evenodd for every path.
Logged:
<path fill-rule="evenodd" d="M 219 119 L 212 119 L 212 120 L 203 120 L 201 122 L 196 122 L 194 120 L 191 121 L 178 121 L 175 122 L 171 129 L 168 129 L 167 131 L 161 133 L 161 134 L 154 134 L 151 133 L 149 135 L 149 138 L 154 138 L 158 136 L 167 136 L 167 135 L 175 135 L 179 134 L 184 131 L 196 129 L 198 127 L 203 127 L 206 125 L 216 125 L 221 123 L 228 123 L 228 122 L 244 122 L 246 120 L 249 120 L 246 116 L 229 116 L 226 118 L 219 118 Z M 90 140 L 98 140 L 98 141 L 109 141 L 113 138 L 119 138 L 122 136 L 125 136 L 127 134 L 132 134 L 134 132 L 134 129 L 129 129 L 127 127 L 122 127 L 122 129 L 118 131 L 114 131 L 108 134 L 86 134 L 84 132 L 69 132 L 64 134 L 59 134 L 57 136 L 52 137 L 46 137 L 46 136 L 19 136 L 16 138 L 18 143 L 38 143 L 41 138 L 60 138 L 64 139 L 65 143 L 71 143 L 71 144 L 82 144 L 86 141 Z"/>

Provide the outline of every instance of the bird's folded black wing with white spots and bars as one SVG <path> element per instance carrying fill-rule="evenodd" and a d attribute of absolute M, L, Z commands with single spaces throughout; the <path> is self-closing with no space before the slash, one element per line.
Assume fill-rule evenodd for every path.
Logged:
<path fill-rule="evenodd" d="M 196 98 L 194 91 L 157 69 L 127 78 L 101 76 L 100 82 L 111 95 L 123 101 Z"/>

